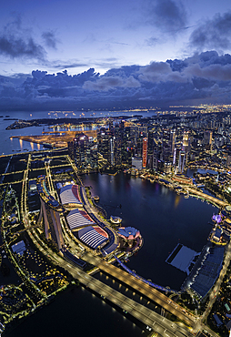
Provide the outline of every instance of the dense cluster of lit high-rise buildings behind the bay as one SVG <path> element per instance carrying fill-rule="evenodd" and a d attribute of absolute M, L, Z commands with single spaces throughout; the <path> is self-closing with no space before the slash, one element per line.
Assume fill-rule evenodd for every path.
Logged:
<path fill-rule="evenodd" d="M 68 142 L 80 170 L 105 167 L 149 168 L 183 173 L 186 164 L 201 158 L 218 165 L 231 163 L 229 112 L 108 118 L 96 137 L 83 131 Z"/>

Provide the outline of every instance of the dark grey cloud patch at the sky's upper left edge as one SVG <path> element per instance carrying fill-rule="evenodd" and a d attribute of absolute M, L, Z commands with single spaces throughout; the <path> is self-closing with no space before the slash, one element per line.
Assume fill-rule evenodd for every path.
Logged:
<path fill-rule="evenodd" d="M 29 30 L 22 27 L 21 18 L 17 16 L 0 32 L 0 55 L 44 60 L 46 52 L 35 42 Z"/>

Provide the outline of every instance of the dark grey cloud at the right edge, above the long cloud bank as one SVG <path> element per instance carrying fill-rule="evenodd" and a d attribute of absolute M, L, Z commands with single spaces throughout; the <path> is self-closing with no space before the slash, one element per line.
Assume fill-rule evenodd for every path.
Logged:
<path fill-rule="evenodd" d="M 189 46 L 198 51 L 205 49 L 227 50 L 231 46 L 231 12 L 216 14 L 198 26 L 189 38 Z"/>

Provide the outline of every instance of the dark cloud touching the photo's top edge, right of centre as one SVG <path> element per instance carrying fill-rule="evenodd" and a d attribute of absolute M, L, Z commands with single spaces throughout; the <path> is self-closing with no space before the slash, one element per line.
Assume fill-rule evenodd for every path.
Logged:
<path fill-rule="evenodd" d="M 174 35 L 179 30 L 186 29 L 186 9 L 181 1 L 149 0 L 147 1 L 146 23 L 164 33 Z"/>

